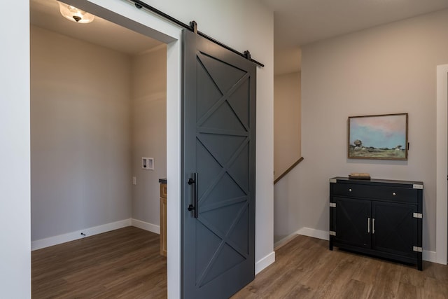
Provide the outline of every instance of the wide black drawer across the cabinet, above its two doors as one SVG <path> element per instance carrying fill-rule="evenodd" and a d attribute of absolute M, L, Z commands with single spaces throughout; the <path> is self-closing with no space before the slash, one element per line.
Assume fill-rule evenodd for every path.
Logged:
<path fill-rule="evenodd" d="M 368 186 L 360 184 L 336 183 L 332 195 L 344 197 L 372 198 L 396 202 L 416 203 L 418 190 L 390 186 Z"/>

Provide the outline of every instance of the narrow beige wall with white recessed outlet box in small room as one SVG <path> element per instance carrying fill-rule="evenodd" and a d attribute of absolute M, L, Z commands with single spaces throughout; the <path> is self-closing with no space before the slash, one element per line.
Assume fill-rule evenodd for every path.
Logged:
<path fill-rule="evenodd" d="M 154 170 L 141 158 L 154 158 Z M 159 179 L 167 177 L 167 46 L 132 57 L 132 218 L 160 225 Z"/>

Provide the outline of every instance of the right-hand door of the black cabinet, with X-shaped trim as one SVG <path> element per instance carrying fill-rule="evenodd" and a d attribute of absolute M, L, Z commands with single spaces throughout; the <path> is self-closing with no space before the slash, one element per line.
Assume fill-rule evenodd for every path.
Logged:
<path fill-rule="evenodd" d="M 372 202 L 373 249 L 415 257 L 413 246 L 418 244 L 416 211 L 413 204 Z"/>

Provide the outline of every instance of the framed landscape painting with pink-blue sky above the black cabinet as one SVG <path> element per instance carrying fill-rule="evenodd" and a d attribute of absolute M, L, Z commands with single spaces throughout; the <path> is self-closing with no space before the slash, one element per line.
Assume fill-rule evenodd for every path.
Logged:
<path fill-rule="evenodd" d="M 407 113 L 349 117 L 349 159 L 407 160 Z"/>

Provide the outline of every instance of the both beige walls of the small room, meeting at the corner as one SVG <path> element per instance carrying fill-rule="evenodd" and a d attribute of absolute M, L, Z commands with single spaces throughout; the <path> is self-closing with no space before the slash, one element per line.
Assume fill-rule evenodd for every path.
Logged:
<path fill-rule="evenodd" d="M 33 241 L 128 218 L 158 230 L 166 53 L 130 57 L 31 26 Z"/>

